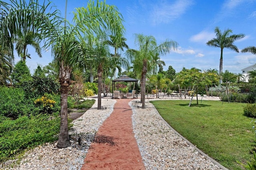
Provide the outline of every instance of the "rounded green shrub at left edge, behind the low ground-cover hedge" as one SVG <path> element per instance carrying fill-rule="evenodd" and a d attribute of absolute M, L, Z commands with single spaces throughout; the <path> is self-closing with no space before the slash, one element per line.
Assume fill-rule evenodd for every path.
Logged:
<path fill-rule="evenodd" d="M 0 87 L 0 115 L 17 119 L 18 116 L 37 113 L 38 109 L 25 98 L 22 89 Z"/>

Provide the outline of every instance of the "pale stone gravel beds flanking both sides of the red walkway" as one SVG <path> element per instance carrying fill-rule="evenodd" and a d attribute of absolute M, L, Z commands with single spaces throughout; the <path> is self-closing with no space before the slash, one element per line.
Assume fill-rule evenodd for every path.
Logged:
<path fill-rule="evenodd" d="M 218 98 L 214 99 L 219 100 Z M 138 106 L 141 105 L 139 99 L 129 103 L 133 110 L 134 135 L 146 169 L 220 169 L 172 131 L 161 119 L 152 104 L 148 103 L 148 100 L 146 101 L 146 109 L 138 109 Z M 69 131 L 72 144 L 70 147 L 59 149 L 56 147 L 57 141 L 46 143 L 26 152 L 19 165 L 16 164 L 17 160 L 9 160 L 0 164 L 0 169 L 79 170 L 84 163 L 84 158 L 94 135 L 104 120 L 112 113 L 115 102 L 116 100 L 112 99 L 102 99 L 104 109 L 97 110 L 96 99 L 91 109 L 86 111 L 82 117 L 73 121 L 74 126 Z M 79 137 L 81 137 L 80 145 L 78 145 Z"/>

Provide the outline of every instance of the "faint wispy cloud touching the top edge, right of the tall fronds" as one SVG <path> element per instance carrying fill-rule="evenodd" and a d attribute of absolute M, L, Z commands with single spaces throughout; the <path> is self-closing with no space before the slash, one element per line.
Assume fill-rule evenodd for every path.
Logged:
<path fill-rule="evenodd" d="M 176 0 L 173 4 L 170 2 L 159 2 L 153 4 L 151 19 L 153 24 L 168 23 L 179 18 L 192 5 L 192 0 Z"/>

